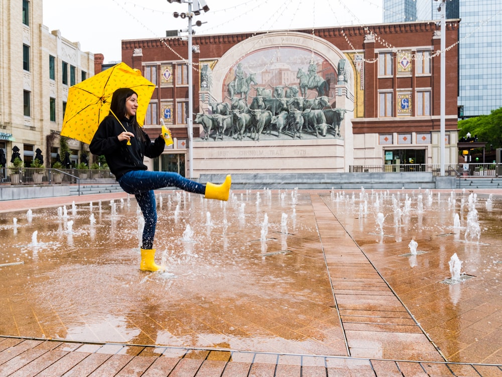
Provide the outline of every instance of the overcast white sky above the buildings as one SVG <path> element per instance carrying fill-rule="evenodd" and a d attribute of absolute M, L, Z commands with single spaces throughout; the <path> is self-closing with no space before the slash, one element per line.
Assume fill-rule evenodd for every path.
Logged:
<path fill-rule="evenodd" d="M 205 0 L 209 12 L 200 34 L 254 32 L 382 23 L 383 0 Z M 83 51 L 102 53 L 104 62 L 121 60 L 121 40 L 162 38 L 166 30 L 185 29 L 187 4 L 166 0 L 43 0 L 43 24 Z"/>

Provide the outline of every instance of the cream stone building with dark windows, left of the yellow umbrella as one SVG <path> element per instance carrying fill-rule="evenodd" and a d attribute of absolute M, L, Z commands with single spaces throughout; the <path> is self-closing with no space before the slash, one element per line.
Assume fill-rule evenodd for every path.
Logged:
<path fill-rule="evenodd" d="M 68 88 L 94 75 L 92 53 L 43 25 L 42 3 L 0 0 L 0 149 L 7 166 L 18 147 L 26 166 L 40 148 L 50 167 L 59 152 Z M 84 146 L 75 140 L 68 145 L 77 162 Z"/>

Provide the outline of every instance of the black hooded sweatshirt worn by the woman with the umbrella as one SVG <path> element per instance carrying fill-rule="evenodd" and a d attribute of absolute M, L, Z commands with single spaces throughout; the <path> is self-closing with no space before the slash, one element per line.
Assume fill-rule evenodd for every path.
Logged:
<path fill-rule="evenodd" d="M 147 170 L 143 158 L 160 156 L 166 145 L 160 136 L 152 142 L 143 130 L 140 132 L 143 132 L 145 142 L 141 142 L 134 128 L 129 125 L 129 119 L 123 117 L 120 121 L 128 132 L 135 134 L 135 137 L 131 138 L 131 145 L 127 145 L 127 140 L 118 140 L 117 136 L 124 132 L 124 129 L 113 116 L 103 119 L 89 144 L 92 154 L 104 155 L 110 171 L 117 180 L 131 170 Z"/>

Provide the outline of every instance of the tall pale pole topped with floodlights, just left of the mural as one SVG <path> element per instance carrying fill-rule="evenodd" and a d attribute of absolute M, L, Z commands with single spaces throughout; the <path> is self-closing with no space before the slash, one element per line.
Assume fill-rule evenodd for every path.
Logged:
<path fill-rule="evenodd" d="M 190 178 L 193 177 L 193 120 L 192 120 L 192 115 L 193 115 L 193 87 L 192 87 L 192 52 L 193 52 L 193 46 L 192 46 L 192 18 L 193 16 L 198 16 L 200 15 L 200 10 L 202 9 L 204 12 L 209 11 L 209 7 L 206 4 L 205 0 L 167 0 L 168 3 L 187 3 L 188 4 L 188 12 L 187 13 L 178 13 L 174 12 L 173 16 L 174 18 L 181 17 L 182 19 L 188 18 L 188 28 L 186 29 L 186 32 L 188 32 L 187 37 L 181 37 L 182 40 L 188 41 L 188 114 L 187 114 L 187 127 L 188 127 L 188 159 L 190 160 L 189 164 L 189 175 Z M 192 12 L 192 6 L 193 6 L 193 12 Z M 196 22 L 197 26 L 202 25 L 200 21 Z M 185 30 L 180 30 L 180 32 L 185 32 Z"/>

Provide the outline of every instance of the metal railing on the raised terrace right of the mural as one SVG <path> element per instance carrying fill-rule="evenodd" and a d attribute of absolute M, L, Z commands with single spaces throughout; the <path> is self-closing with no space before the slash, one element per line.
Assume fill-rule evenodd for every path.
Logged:
<path fill-rule="evenodd" d="M 441 173 L 440 164 L 381 164 L 381 165 L 350 165 L 350 172 L 364 173 L 391 173 L 391 172 L 415 172 L 429 171 L 434 176 Z M 446 164 L 445 175 L 447 176 L 470 176 L 470 177 L 498 177 L 502 175 L 502 164 L 494 163 L 465 163 Z"/>

